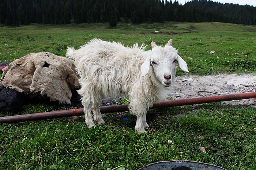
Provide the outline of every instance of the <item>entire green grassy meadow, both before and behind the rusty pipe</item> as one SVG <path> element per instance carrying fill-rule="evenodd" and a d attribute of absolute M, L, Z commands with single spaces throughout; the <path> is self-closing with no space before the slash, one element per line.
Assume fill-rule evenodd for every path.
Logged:
<path fill-rule="evenodd" d="M 109 29 L 108 25 L 0 27 L 0 63 L 41 51 L 65 56 L 67 46 L 77 49 L 93 38 L 124 46 L 144 43 L 147 50 L 151 41 L 163 46 L 173 39 L 189 74 L 256 74 L 256 26 L 166 22 L 118 23 L 115 29 Z M 177 34 L 142 34 L 155 30 Z M 212 50 L 215 54 L 210 54 Z M 177 68 L 177 76 L 182 74 L 186 73 Z M 53 106 L 30 104 L 18 113 L 0 112 L 0 116 L 52 110 Z M 136 117 L 129 112 L 107 113 L 103 117 L 106 124 L 91 129 L 86 127 L 84 116 L 0 124 L 0 169 L 135 170 L 174 159 L 225 169 L 256 169 L 255 113 L 252 107 L 221 103 L 151 109 L 146 134 L 134 131 Z"/>

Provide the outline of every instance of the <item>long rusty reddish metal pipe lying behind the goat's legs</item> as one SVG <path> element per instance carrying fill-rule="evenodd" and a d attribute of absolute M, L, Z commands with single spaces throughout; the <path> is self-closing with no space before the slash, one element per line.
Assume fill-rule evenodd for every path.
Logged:
<path fill-rule="evenodd" d="M 150 109 L 181 106 L 181 105 L 213 103 L 213 102 L 219 102 L 219 101 L 241 100 L 246 98 L 256 98 L 256 92 L 162 101 L 154 104 L 153 107 Z M 112 113 L 112 112 L 124 112 L 124 111 L 128 111 L 128 104 L 103 106 L 103 107 L 99 107 L 99 109 L 102 114 Z M 31 120 L 44 120 L 44 119 L 53 119 L 53 118 L 59 118 L 59 117 L 80 116 L 83 114 L 84 114 L 83 109 L 71 109 L 71 110 L 64 110 L 64 111 L 33 113 L 33 114 L 27 114 L 27 115 L 5 116 L 5 117 L 0 117 L 0 123 L 17 123 L 17 122 L 24 122 L 24 121 L 31 121 Z"/>

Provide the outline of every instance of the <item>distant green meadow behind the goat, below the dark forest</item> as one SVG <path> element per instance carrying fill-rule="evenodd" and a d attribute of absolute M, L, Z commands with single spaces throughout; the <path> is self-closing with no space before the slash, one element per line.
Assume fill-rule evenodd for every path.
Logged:
<path fill-rule="evenodd" d="M 30 26 L 0 27 L 0 62 L 11 62 L 29 53 L 41 51 L 65 56 L 67 46 L 76 49 L 93 38 L 121 42 L 132 46 L 144 43 L 150 50 L 150 43 L 165 45 L 173 39 L 173 46 L 188 63 L 190 74 L 208 75 L 219 73 L 255 74 L 256 40 L 254 26 L 241 26 L 224 23 L 166 23 L 128 25 L 120 23 L 116 29 L 108 29 L 107 24 L 79 24 L 68 26 Z M 125 32 L 182 32 L 190 29 L 192 33 L 125 34 Z M 213 30 L 213 28 L 215 28 Z M 235 31 L 237 30 L 237 31 Z M 8 46 L 5 46 L 7 44 Z M 215 54 L 210 51 L 215 50 Z M 177 75 L 185 74 L 180 69 Z"/>

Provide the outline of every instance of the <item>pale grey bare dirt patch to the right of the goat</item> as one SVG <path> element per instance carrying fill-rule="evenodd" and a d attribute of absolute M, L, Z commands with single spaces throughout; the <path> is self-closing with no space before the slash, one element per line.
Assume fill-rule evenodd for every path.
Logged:
<path fill-rule="evenodd" d="M 187 75 L 176 77 L 173 84 L 173 93 L 169 95 L 169 98 L 176 100 L 182 98 L 218 96 L 218 94 L 248 93 L 255 92 L 255 88 L 256 76 L 250 74 L 219 74 L 210 76 Z M 253 98 L 223 101 L 222 103 L 256 107 L 256 100 L 253 100 Z"/>

